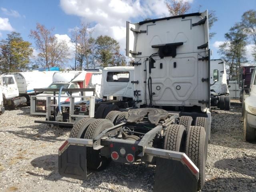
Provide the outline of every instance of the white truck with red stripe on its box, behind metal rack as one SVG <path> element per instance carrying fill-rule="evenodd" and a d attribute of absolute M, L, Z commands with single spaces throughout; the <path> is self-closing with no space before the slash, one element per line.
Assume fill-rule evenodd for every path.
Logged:
<path fill-rule="evenodd" d="M 94 71 L 60 71 L 55 72 L 52 77 L 52 84 L 48 86 L 48 89 L 58 89 L 60 88 L 95 88 L 96 98 L 100 97 L 101 88 L 101 72 Z M 59 92 L 56 92 L 58 96 Z M 76 91 L 72 92 L 73 96 L 83 96 L 83 93 Z M 61 92 L 61 96 L 68 96 L 68 92 Z M 84 96 L 91 96 L 93 92 L 85 92 Z M 30 114 L 32 115 L 46 115 L 46 96 L 54 96 L 54 92 L 45 90 L 42 94 L 33 96 L 33 100 L 30 107 Z M 55 104 L 58 104 L 58 98 L 55 98 Z M 60 102 L 69 102 L 69 98 L 60 97 Z M 74 102 L 81 101 L 81 97 L 76 97 Z M 51 104 L 54 103 L 54 98 L 51 100 Z M 53 109 L 53 108 L 52 108 Z"/>

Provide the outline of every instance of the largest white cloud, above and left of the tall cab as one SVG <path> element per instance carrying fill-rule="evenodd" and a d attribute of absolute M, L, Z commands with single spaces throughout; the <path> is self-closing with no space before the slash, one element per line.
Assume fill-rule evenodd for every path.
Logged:
<path fill-rule="evenodd" d="M 192 2 L 192 0 L 188 0 Z M 76 15 L 93 23 L 93 37 L 108 35 L 119 41 L 121 51 L 126 44 L 126 21 L 168 16 L 165 0 L 60 0 L 66 14 Z M 141 19 L 140 19 L 141 20 Z M 140 21 L 138 20 L 138 21 Z M 137 21 L 136 21 L 137 22 Z M 69 32 L 72 29 L 69 29 Z"/>

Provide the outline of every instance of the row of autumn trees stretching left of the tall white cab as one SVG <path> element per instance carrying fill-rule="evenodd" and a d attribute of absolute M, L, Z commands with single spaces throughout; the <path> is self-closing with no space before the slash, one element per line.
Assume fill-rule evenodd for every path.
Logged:
<path fill-rule="evenodd" d="M 0 74 L 20 72 L 38 67 L 60 66 L 71 70 L 104 68 L 107 66 L 126 66 L 126 57 L 120 52 L 120 45 L 110 36 L 92 37 L 88 23 L 72 30 L 71 45 L 53 34 L 54 28 L 47 29 L 37 23 L 30 30 L 31 43 L 24 41 L 21 34 L 11 32 L 6 39 L 0 40 Z M 70 50 L 74 49 L 74 54 Z M 33 54 L 33 51 L 36 53 Z M 74 62 L 72 62 L 74 60 Z M 67 66 L 67 64 L 71 66 Z"/>

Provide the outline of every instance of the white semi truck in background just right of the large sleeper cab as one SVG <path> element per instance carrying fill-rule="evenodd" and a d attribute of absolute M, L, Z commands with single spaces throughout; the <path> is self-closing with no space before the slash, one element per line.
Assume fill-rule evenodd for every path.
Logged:
<path fill-rule="evenodd" d="M 230 95 L 228 88 L 225 62 L 221 59 L 211 60 L 210 66 L 211 106 L 221 110 L 230 110 Z"/>

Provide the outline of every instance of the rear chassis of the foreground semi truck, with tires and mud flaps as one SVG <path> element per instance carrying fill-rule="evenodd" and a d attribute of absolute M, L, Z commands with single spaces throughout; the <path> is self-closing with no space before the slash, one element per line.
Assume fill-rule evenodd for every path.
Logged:
<path fill-rule="evenodd" d="M 180 117 L 157 108 L 122 113 L 126 117 L 121 121 L 112 120 L 116 125 L 108 119 L 80 120 L 59 148 L 59 173 L 85 179 L 87 169 L 101 170 L 110 160 L 133 164 L 140 159 L 156 164 L 154 191 L 188 192 L 202 188 L 207 118 L 204 124 L 198 123 L 198 117 L 194 120 L 195 125 L 202 127 L 190 126 L 191 116 Z M 184 121 L 184 117 L 190 120 Z"/>

